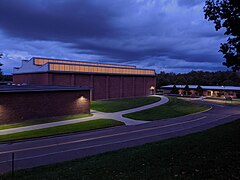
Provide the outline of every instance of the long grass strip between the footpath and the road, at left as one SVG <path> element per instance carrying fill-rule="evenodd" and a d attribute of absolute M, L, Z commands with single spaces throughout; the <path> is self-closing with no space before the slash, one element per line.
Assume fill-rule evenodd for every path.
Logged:
<path fill-rule="evenodd" d="M 56 126 L 51 128 L 45 128 L 45 129 L 31 130 L 31 131 L 13 133 L 8 135 L 0 135 L 0 142 L 51 136 L 51 135 L 58 135 L 58 134 L 66 134 L 66 133 L 73 133 L 73 132 L 81 132 L 81 131 L 88 131 L 88 130 L 101 129 L 106 127 L 120 126 L 120 125 L 124 125 L 124 123 L 115 121 L 112 119 L 96 119 L 91 121 L 75 123 L 75 124 L 68 124 L 68 125 Z"/>

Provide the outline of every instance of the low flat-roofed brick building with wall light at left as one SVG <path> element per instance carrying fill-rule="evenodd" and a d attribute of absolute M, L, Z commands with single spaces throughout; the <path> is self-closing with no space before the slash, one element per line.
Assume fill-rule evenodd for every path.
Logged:
<path fill-rule="evenodd" d="M 0 124 L 90 113 L 90 88 L 1 86 Z"/>

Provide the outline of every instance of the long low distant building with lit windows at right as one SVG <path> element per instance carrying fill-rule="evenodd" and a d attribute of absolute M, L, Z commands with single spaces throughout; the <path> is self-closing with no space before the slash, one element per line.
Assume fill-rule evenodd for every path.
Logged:
<path fill-rule="evenodd" d="M 160 89 L 164 94 L 240 98 L 240 86 L 168 85 Z"/>

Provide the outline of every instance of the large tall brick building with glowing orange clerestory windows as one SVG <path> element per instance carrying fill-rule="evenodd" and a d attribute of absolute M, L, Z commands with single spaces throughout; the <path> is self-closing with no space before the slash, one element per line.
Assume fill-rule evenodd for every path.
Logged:
<path fill-rule="evenodd" d="M 33 57 L 14 68 L 14 84 L 91 87 L 92 99 L 155 94 L 156 73 L 136 66 Z"/>

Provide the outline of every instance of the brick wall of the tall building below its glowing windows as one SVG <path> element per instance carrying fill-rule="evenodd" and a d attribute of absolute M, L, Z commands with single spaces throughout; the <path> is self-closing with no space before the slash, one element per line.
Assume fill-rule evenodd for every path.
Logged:
<path fill-rule="evenodd" d="M 156 77 L 152 76 L 43 73 L 13 77 L 14 83 L 93 87 L 93 100 L 147 96 L 151 94 L 150 87 L 156 87 Z"/>

